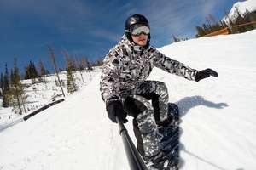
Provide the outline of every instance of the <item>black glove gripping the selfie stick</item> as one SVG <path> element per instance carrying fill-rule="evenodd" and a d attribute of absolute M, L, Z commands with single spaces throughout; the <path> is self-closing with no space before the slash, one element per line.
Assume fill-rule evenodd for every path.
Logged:
<path fill-rule="evenodd" d="M 128 122 L 126 119 L 127 113 L 124 110 L 122 103 L 119 100 L 109 101 L 107 104 L 108 118 L 116 122 L 116 116 L 119 116 L 119 120 L 123 123 Z"/>

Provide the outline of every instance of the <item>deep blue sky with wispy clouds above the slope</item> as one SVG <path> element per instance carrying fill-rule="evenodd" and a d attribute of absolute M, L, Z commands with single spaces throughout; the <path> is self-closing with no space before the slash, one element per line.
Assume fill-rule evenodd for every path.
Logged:
<path fill-rule="evenodd" d="M 65 67 L 62 50 L 90 60 L 104 57 L 124 33 L 131 14 L 144 14 L 151 26 L 151 44 L 160 48 L 177 37 L 195 37 L 195 26 L 207 14 L 222 19 L 237 0 L 1 0 L 0 72 L 18 59 L 20 70 L 29 60 L 42 59 L 49 71 L 46 45 Z"/>

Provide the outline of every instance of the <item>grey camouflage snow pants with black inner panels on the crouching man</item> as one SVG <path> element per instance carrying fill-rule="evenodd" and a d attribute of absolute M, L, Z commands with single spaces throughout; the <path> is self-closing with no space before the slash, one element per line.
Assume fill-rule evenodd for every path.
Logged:
<path fill-rule="evenodd" d="M 166 84 L 145 81 L 125 99 L 124 107 L 133 116 L 133 131 L 137 138 L 137 150 L 142 156 L 151 157 L 160 153 L 163 136 L 158 126 L 167 119 L 168 92 Z"/>

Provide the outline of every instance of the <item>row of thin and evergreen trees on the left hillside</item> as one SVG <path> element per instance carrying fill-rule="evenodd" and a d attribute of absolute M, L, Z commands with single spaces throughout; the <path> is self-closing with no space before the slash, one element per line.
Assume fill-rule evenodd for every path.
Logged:
<path fill-rule="evenodd" d="M 72 94 L 73 92 L 78 90 L 78 86 L 76 83 L 76 79 L 74 73 L 76 71 L 79 72 L 81 80 L 84 82 L 84 77 L 82 75 L 82 71 L 90 71 L 93 70 L 94 66 L 101 66 L 102 59 L 99 58 L 95 63 L 90 64 L 90 61 L 86 58 L 75 58 L 69 56 L 67 51 L 62 51 L 62 54 L 66 61 L 65 71 L 67 76 L 67 84 L 61 80 L 59 77 L 59 72 L 64 71 L 58 67 L 55 60 L 55 53 L 53 48 L 48 47 L 49 51 L 49 59 L 51 60 L 51 64 L 55 70 L 55 85 L 61 88 L 61 92 L 63 97 L 65 97 L 63 86 L 67 85 L 67 92 Z M 45 69 L 44 64 L 41 59 L 38 61 L 38 67 L 35 63 L 30 60 L 29 64 L 26 65 L 24 69 L 24 76 L 21 77 L 20 70 L 17 66 L 17 59 L 14 59 L 14 65 L 9 70 L 8 65 L 5 64 L 5 69 L 0 75 L 0 97 L 3 99 L 3 107 L 12 106 L 15 108 L 15 111 L 19 114 L 26 112 L 26 92 L 25 92 L 25 84 L 22 84 L 21 80 L 31 80 L 31 84 L 44 82 L 47 84 L 47 75 L 50 72 Z"/>

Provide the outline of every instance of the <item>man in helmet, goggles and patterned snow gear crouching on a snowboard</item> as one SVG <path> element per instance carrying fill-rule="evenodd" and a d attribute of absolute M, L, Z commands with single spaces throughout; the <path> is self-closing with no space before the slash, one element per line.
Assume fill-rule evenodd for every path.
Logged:
<path fill-rule="evenodd" d="M 156 66 L 195 82 L 218 77 L 218 73 L 212 69 L 191 69 L 161 54 L 149 42 L 148 20 L 142 14 L 131 15 L 125 21 L 125 35 L 103 61 L 100 89 L 112 122 L 116 122 L 116 116 L 124 123 L 127 114 L 134 117 L 137 150 L 144 160 L 153 162 L 151 169 L 168 169 L 159 130 L 173 122 L 168 113 L 168 92 L 164 82 L 147 81 L 149 73 Z"/>

